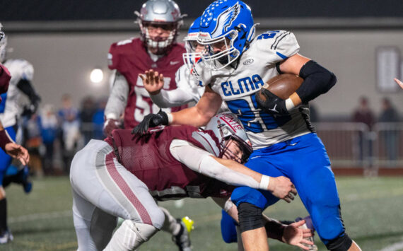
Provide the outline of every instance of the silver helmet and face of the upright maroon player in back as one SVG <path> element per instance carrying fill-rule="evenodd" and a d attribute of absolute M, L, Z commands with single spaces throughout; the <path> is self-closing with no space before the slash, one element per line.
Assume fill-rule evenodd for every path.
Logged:
<path fill-rule="evenodd" d="M 153 54 L 165 54 L 175 42 L 182 25 L 180 8 L 172 0 L 148 0 L 138 16 L 141 37 Z"/>

